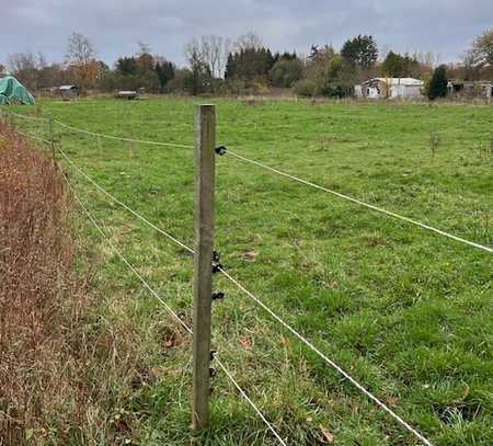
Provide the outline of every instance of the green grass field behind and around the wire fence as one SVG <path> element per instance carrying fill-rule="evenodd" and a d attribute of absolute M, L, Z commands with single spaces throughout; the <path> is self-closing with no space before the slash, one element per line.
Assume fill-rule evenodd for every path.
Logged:
<path fill-rule="evenodd" d="M 211 102 L 218 144 L 493 245 L 493 107 Z M 36 112 L 93 131 L 192 145 L 196 103 L 42 101 Z M 47 135 L 46 125 L 16 122 Z M 59 126 L 56 134 L 103 187 L 193 245 L 192 149 L 99 140 Z M 60 163 L 111 240 L 190 322 L 192 259 Z M 435 445 L 493 444 L 491 254 L 228 155 L 217 159 L 216 196 L 216 249 L 246 288 Z M 191 340 L 74 211 L 88 245 L 81 263 L 94 267 L 91 287 L 101 296 L 92 329 L 131 328 L 144 357 L 137 385 L 101 384 L 115 401 L 106 428 L 127 444 L 190 444 Z M 419 444 L 223 277 L 215 288 L 227 297 L 213 307 L 214 345 L 289 445 L 330 444 L 328 433 L 341 446 Z M 211 400 L 200 444 L 276 444 L 219 371 Z M 74 434 L 73 443 L 84 441 Z"/>

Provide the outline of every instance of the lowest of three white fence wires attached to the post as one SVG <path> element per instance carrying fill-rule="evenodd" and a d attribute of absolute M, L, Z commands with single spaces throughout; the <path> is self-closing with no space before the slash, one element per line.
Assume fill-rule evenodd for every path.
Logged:
<path fill-rule="evenodd" d="M 193 334 L 192 329 L 176 315 L 175 311 L 159 296 L 159 294 L 148 284 L 148 282 L 141 276 L 141 274 L 136 270 L 136 267 L 125 258 L 125 255 L 116 248 L 116 245 L 110 240 L 110 238 L 106 236 L 104 230 L 101 228 L 101 226 L 98 224 L 98 221 L 94 219 L 90 210 L 84 206 L 82 203 L 82 199 L 79 197 L 79 195 L 76 193 L 74 188 L 70 184 L 68 178 L 65 175 L 64 172 L 61 172 L 64 180 L 68 184 L 68 187 L 70 188 L 73 197 L 76 198 L 79 206 L 84 211 L 88 219 L 91 221 L 91 224 L 94 226 L 94 228 L 98 230 L 100 236 L 103 238 L 103 240 L 108 243 L 111 249 L 118 255 L 118 258 L 122 260 L 122 262 L 134 273 L 134 275 L 141 282 L 142 286 L 151 294 L 152 297 L 154 297 L 160 304 L 164 306 L 167 311 L 180 323 L 180 325 L 188 333 Z M 241 388 L 241 386 L 238 384 L 238 381 L 234 379 L 231 371 L 225 366 L 222 361 L 219 359 L 219 355 L 216 353 L 214 355 L 214 358 L 216 363 L 218 364 L 219 368 L 225 373 L 226 377 L 231 381 L 231 384 L 236 387 L 236 389 L 240 392 L 240 394 L 243 397 L 243 399 L 252 407 L 253 411 L 256 413 L 256 415 L 261 419 L 261 421 L 267 426 L 267 428 L 271 431 L 271 433 L 276 437 L 276 439 L 282 444 L 283 446 L 287 446 L 286 442 L 280 437 L 280 435 L 277 433 L 277 431 L 274 428 L 273 424 L 265 418 L 265 415 L 262 413 L 262 411 L 259 409 L 259 407 L 252 401 L 252 399 L 246 394 L 246 392 Z"/>

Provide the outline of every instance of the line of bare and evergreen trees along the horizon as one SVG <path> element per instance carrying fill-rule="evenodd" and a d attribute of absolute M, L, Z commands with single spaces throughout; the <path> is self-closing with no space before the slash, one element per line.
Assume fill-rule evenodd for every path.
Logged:
<path fill-rule="evenodd" d="M 122 56 L 110 67 L 98 59 L 88 37 L 73 33 L 62 62 L 47 64 L 41 53 L 24 53 L 10 55 L 8 68 L 34 91 L 73 83 L 102 92 L 144 89 L 193 95 L 261 93 L 278 88 L 307 96 L 343 98 L 353 94 L 356 83 L 375 77 L 422 79 L 428 91 L 437 76 L 440 84 L 447 78 L 493 80 L 493 30 L 474 39 L 461 62 L 439 67 L 432 53 L 382 54 L 371 35 L 348 38 L 339 50 L 332 45 L 312 45 L 305 56 L 273 52 L 254 33 L 234 42 L 209 35 L 192 39 L 185 54 L 187 66 L 177 67 L 139 42 L 136 54 Z M 5 67 L 0 66 L 0 73 L 2 70 Z"/>

